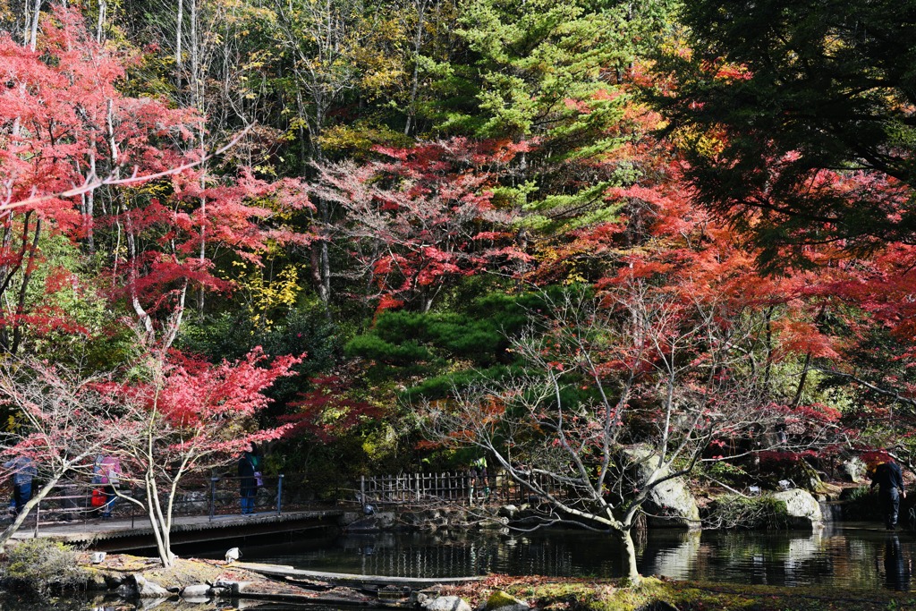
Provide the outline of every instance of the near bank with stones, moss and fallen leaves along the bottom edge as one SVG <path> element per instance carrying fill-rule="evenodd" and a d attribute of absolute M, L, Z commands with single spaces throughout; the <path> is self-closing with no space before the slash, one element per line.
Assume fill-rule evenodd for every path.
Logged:
<path fill-rule="evenodd" d="M 268 579 L 245 563 L 177 559 L 168 569 L 155 559 L 82 552 L 77 564 L 93 598 L 89 607 L 123 611 L 168 608 L 362 606 L 418 611 L 878 611 L 916 608 L 916 595 L 835 588 L 698 584 L 647 577 L 638 585 L 618 580 L 487 575 L 460 584 L 419 589 L 388 584 L 372 589 L 315 579 Z M 275 567 L 282 568 L 282 567 Z M 280 571 L 279 573 L 282 573 Z M 15 594 L 15 593 L 13 593 Z M 85 605 L 79 608 L 88 608 Z"/>

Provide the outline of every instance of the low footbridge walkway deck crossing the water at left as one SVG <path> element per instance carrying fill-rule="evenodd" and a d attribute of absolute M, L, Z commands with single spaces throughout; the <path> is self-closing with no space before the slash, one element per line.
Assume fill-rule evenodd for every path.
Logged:
<path fill-rule="evenodd" d="M 264 512 L 251 516 L 226 515 L 180 516 L 174 519 L 171 529 L 173 543 L 193 543 L 230 539 L 238 536 L 256 536 L 320 529 L 337 526 L 344 516 L 343 509 L 290 511 L 282 514 Z M 35 531 L 28 521 L 14 535 L 14 539 L 33 539 Z M 114 518 L 89 520 L 68 524 L 42 524 L 39 538 L 86 546 L 95 550 L 130 551 L 155 545 L 153 530 L 145 518 Z"/>

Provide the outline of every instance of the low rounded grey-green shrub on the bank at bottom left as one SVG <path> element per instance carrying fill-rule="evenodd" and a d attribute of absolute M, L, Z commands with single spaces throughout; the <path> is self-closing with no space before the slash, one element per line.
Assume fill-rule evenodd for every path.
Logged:
<path fill-rule="evenodd" d="M 69 546 L 45 539 L 18 543 L 6 554 L 0 580 L 9 592 L 45 597 L 85 587 L 87 575 Z"/>

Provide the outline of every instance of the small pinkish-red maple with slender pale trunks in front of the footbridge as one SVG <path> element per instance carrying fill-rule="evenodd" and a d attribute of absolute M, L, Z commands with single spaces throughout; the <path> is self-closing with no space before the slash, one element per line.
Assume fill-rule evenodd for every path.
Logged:
<path fill-rule="evenodd" d="M 124 481 L 144 493 L 119 496 L 146 512 L 164 566 L 174 562 L 170 533 L 181 480 L 228 464 L 252 442 L 277 439 L 288 428 L 258 429 L 255 417 L 267 407 L 264 390 L 294 375 L 301 357 L 266 359 L 256 349 L 214 366 L 176 352 L 151 352 L 143 376 L 107 387 L 130 429 L 108 450 L 120 458 Z"/>

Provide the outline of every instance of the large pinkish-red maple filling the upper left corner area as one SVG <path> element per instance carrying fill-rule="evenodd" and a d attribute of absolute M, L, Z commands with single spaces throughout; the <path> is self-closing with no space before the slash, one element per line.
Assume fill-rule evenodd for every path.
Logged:
<path fill-rule="evenodd" d="M 47 235 L 99 256 L 99 284 L 163 348 L 189 289 L 230 286 L 217 253 L 256 261 L 268 243 L 311 240 L 278 221 L 310 205 L 295 180 L 217 180 L 203 168 L 215 153 L 192 146 L 202 115 L 119 91 L 133 61 L 62 5 L 43 16 L 36 48 L 0 36 L 0 350 L 16 354 L 28 328 L 66 316 L 30 292 Z"/>

